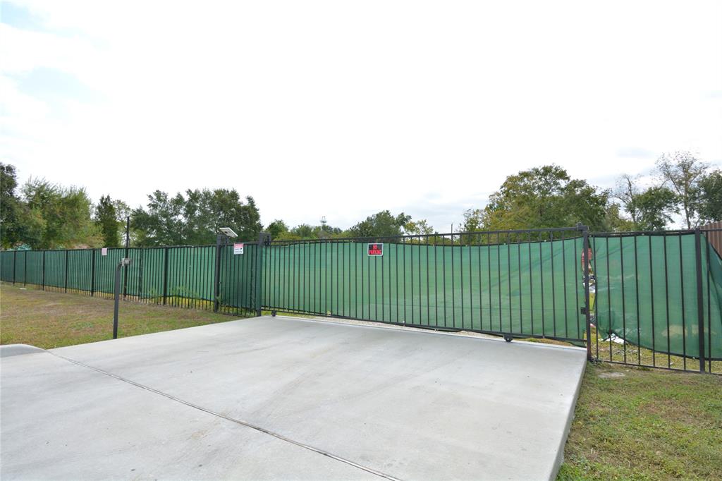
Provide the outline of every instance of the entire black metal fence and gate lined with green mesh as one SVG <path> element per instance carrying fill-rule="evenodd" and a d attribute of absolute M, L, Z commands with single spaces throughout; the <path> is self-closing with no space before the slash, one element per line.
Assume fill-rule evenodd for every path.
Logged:
<path fill-rule="evenodd" d="M 721 235 L 582 225 L 305 241 L 261 234 L 243 249 L 219 238 L 106 255 L 3 251 L 0 280 L 110 298 L 128 256 L 122 293 L 136 302 L 558 339 L 612 363 L 722 373 Z"/>

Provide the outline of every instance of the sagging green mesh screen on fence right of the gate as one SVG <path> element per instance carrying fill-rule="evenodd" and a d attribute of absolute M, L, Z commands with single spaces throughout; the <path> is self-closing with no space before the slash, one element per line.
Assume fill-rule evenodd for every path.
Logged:
<path fill-rule="evenodd" d="M 702 235 L 705 358 L 722 359 L 722 262 Z M 699 357 L 695 234 L 591 239 L 596 323 L 656 352 Z"/>

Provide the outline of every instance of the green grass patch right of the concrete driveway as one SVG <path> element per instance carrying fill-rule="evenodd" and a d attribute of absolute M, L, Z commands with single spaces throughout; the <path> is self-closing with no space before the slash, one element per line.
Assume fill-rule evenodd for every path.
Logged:
<path fill-rule="evenodd" d="M 669 479 L 722 479 L 722 376 L 588 365 L 557 480 Z"/>

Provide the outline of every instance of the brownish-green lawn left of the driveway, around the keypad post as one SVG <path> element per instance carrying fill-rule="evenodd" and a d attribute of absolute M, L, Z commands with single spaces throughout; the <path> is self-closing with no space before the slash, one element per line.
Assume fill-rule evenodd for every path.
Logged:
<path fill-rule="evenodd" d="M 121 302 L 118 337 L 232 321 L 240 316 L 213 311 Z M 113 338 L 113 300 L 0 287 L 0 344 L 44 349 Z"/>

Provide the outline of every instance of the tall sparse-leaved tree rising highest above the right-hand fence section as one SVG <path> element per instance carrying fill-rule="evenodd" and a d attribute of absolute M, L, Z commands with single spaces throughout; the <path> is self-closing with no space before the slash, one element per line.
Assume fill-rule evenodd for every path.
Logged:
<path fill-rule="evenodd" d="M 708 165 L 690 152 L 674 152 L 659 157 L 656 167 L 664 183 L 677 194 L 687 229 L 698 225 L 700 181 Z"/>

